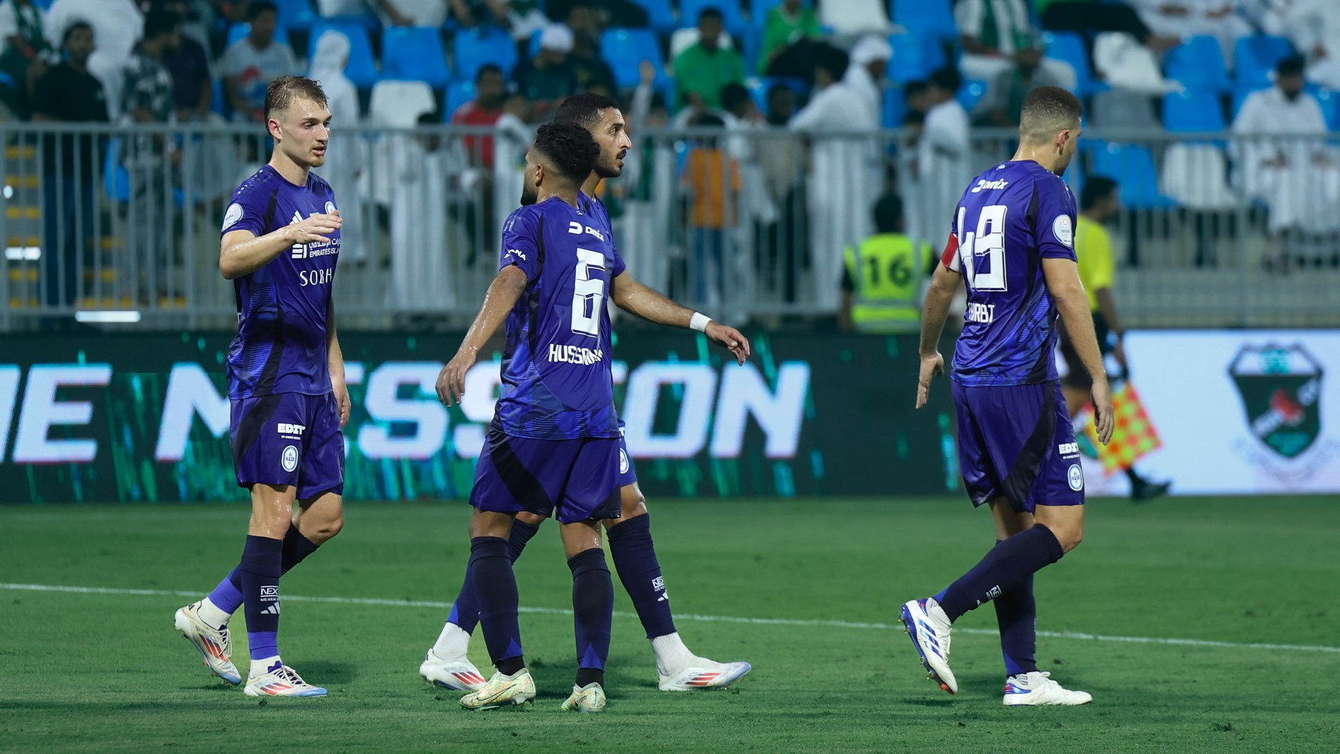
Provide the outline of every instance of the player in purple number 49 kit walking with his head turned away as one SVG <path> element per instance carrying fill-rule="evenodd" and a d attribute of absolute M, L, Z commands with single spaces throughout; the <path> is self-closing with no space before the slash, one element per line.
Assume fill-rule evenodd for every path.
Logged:
<path fill-rule="evenodd" d="M 1081 114 L 1064 89 L 1029 93 L 1014 158 L 978 176 L 958 201 L 922 315 L 917 408 L 943 372 L 939 335 L 959 280 L 967 283 L 953 365 L 959 462 L 973 504 L 992 508 L 997 543 L 939 594 L 903 605 L 900 617 L 930 679 L 954 694 L 950 627 L 994 601 L 1006 706 L 1092 699 L 1061 688 L 1033 657 L 1033 573 L 1084 534 L 1084 474 L 1052 356 L 1057 313 L 1093 377 L 1099 439 L 1112 435 L 1112 398 L 1075 258 L 1075 197 L 1061 180 Z"/>

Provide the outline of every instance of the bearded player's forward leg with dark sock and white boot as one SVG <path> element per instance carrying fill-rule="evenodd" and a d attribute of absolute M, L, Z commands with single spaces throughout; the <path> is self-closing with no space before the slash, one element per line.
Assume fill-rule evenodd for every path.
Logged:
<path fill-rule="evenodd" d="M 689 651 L 675 631 L 670 614 L 670 594 L 666 592 L 661 562 L 651 541 L 651 517 L 646 498 L 627 462 L 627 451 L 620 447 L 619 507 L 620 518 L 607 519 L 607 539 L 619 581 L 638 610 L 642 628 L 651 641 L 657 657 L 661 691 L 693 691 L 725 687 L 746 672 L 749 663 L 717 663 Z"/>

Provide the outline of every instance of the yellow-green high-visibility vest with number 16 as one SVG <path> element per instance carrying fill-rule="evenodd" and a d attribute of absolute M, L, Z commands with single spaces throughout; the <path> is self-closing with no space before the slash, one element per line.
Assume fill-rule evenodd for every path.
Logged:
<path fill-rule="evenodd" d="M 844 250 L 855 284 L 851 321 L 862 333 L 917 333 L 917 294 L 930 262 L 930 247 L 902 233 L 876 233 Z"/>

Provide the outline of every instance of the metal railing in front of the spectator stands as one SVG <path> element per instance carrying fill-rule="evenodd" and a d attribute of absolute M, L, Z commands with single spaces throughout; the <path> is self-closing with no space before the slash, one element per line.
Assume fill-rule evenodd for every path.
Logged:
<path fill-rule="evenodd" d="M 3 123 L 0 330 L 86 318 L 230 327 L 218 227 L 269 157 L 251 126 Z M 327 165 L 344 216 L 342 327 L 460 326 L 496 272 L 529 131 L 336 130 Z M 939 247 L 969 180 L 1014 134 L 804 136 L 645 130 L 602 189 L 630 271 L 733 321 L 829 315 L 843 247 L 887 191 Z M 1316 138 L 1085 131 L 1067 181 L 1122 182 L 1116 298 L 1131 326 L 1340 326 L 1340 152 Z M 957 152 L 955 152 L 957 150 Z M 1083 254 L 1083 250 L 1081 250 Z M 96 314 L 88 314 L 96 313 Z"/>

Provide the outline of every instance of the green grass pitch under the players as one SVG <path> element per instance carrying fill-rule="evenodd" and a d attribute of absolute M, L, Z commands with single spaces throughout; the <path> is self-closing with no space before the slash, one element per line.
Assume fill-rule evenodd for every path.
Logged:
<path fill-rule="evenodd" d="M 1001 706 L 990 606 L 954 639 L 961 691 L 925 679 L 898 605 L 992 543 L 961 499 L 653 500 L 689 647 L 754 671 L 729 691 L 662 694 L 615 582 L 604 715 L 561 712 L 572 618 L 527 613 L 540 688 L 524 710 L 466 712 L 417 668 L 446 609 L 284 602 L 280 647 L 326 699 L 269 703 L 212 679 L 172 628 L 172 594 L 0 588 L 4 751 L 1336 751 L 1340 499 L 1089 504 L 1084 545 L 1037 578 L 1038 628 L 1237 647 L 1043 637 L 1038 665 L 1093 694 L 1079 708 Z M 449 601 L 468 554 L 460 503 L 356 504 L 284 578 L 306 597 Z M 241 506 L 4 507 L 0 581 L 205 594 L 241 551 Z M 557 533 L 517 568 L 521 604 L 570 606 Z M 784 618 L 742 624 L 691 616 Z M 243 621 L 234 623 L 245 674 Z M 1264 649 L 1245 644 L 1312 645 Z M 1329 649 L 1328 649 L 1329 648 Z M 488 674 L 481 637 L 472 657 Z"/>

